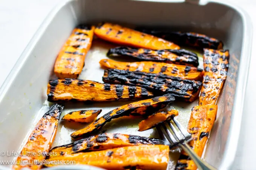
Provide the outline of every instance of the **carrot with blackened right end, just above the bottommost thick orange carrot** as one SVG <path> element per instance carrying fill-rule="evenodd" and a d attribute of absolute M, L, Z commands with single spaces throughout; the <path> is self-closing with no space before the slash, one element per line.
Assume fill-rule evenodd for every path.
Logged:
<path fill-rule="evenodd" d="M 91 152 L 97 150 L 113 149 L 124 146 L 136 146 L 142 144 L 164 144 L 157 138 L 140 137 L 136 135 L 104 133 L 90 136 L 74 143 L 57 146 L 50 150 L 49 158 L 66 156 L 78 152 Z"/>

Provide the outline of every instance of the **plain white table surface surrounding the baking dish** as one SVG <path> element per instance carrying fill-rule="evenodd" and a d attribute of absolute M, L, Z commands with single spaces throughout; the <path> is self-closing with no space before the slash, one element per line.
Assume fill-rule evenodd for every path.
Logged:
<path fill-rule="evenodd" d="M 229 0 L 232 1 L 232 0 Z M 50 10 L 61 0 L 0 0 L 0 86 L 8 76 L 18 57 L 43 22 Z M 256 31 L 256 1 L 233 0 L 251 17 Z M 256 33 L 252 47 L 250 72 L 239 149 L 233 170 L 256 170 Z"/>

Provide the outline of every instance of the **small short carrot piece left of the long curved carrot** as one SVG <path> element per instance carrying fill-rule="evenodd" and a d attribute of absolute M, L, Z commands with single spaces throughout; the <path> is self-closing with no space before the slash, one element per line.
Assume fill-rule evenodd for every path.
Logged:
<path fill-rule="evenodd" d="M 72 111 L 62 117 L 61 120 L 90 123 L 96 119 L 102 110 L 80 110 Z"/>

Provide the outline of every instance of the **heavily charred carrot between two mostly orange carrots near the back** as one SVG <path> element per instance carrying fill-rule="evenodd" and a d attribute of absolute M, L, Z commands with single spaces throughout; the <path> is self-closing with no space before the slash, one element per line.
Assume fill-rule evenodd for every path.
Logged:
<path fill-rule="evenodd" d="M 174 63 L 187 66 L 199 65 L 197 54 L 180 50 L 148 50 L 145 48 L 116 47 L 108 50 L 107 56 L 128 56 L 137 60 Z"/>

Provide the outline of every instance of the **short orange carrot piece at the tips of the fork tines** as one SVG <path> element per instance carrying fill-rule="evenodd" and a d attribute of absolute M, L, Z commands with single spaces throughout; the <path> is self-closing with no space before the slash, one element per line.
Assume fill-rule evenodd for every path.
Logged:
<path fill-rule="evenodd" d="M 175 116 L 178 116 L 177 110 L 156 112 L 156 113 L 148 116 L 147 119 L 142 120 L 139 123 L 139 131 L 145 131 L 148 129 L 152 129 L 155 126 L 159 125 L 160 123 L 166 122 Z"/>

